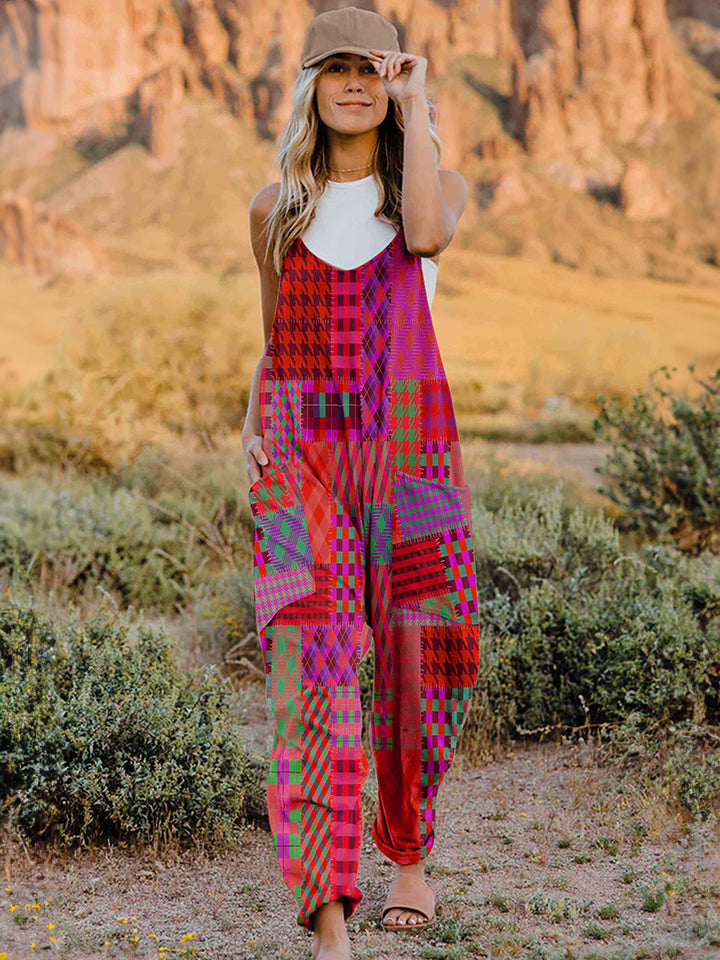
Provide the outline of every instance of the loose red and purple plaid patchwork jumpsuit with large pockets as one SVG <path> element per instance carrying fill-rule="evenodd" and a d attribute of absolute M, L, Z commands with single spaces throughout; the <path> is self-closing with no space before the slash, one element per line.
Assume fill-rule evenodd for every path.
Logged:
<path fill-rule="evenodd" d="M 470 491 L 420 257 L 402 227 L 339 269 L 289 247 L 260 379 L 270 458 L 250 487 L 254 595 L 274 725 L 267 803 L 298 923 L 356 876 L 357 667 L 374 648 L 372 834 L 425 857 L 478 670 Z"/>

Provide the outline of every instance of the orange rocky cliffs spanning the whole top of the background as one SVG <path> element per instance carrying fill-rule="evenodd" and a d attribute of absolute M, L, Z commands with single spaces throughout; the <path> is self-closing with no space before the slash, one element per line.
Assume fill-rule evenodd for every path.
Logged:
<path fill-rule="evenodd" d="M 256 137 L 272 141 L 290 109 L 307 24 L 315 12 L 336 5 L 3 3 L 0 134 L 25 129 L 76 144 L 98 137 L 107 148 L 111 132 L 122 128 L 125 141 L 143 143 L 159 163 L 167 163 L 177 149 L 175 112 L 189 96 L 200 95 L 219 101 Z M 495 197 L 497 216 L 536 200 L 542 190 L 523 180 L 518 168 L 529 160 L 575 190 L 616 196 L 628 212 L 635 211 L 636 220 L 670 214 L 672 191 L 663 172 L 642 163 L 630 166 L 617 148 L 692 116 L 693 88 L 668 13 L 701 23 L 714 35 L 713 25 L 720 25 L 717 0 L 669 0 L 667 7 L 664 0 L 368 0 L 366 5 L 397 25 L 404 49 L 427 57 L 431 84 L 443 81 L 434 94 L 443 165 L 470 176 L 478 157 L 495 165 L 490 193 L 483 193 L 480 183 L 479 192 L 473 191 L 478 210 L 493 212 L 484 196 Z M 697 29 L 692 36 L 697 40 Z M 501 91 L 469 75 L 461 83 L 453 73 L 460 61 L 506 65 L 508 88 Z M 468 122 L 481 103 L 495 109 L 497 123 L 489 133 Z"/>

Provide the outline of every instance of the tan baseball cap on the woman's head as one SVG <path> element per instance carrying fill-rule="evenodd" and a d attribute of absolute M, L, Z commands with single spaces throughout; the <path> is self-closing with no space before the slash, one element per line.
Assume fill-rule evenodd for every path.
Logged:
<path fill-rule="evenodd" d="M 340 7 L 319 13 L 305 34 L 300 65 L 311 67 L 331 53 L 359 53 L 379 60 L 370 50 L 394 50 L 400 53 L 398 33 L 385 17 L 359 7 Z"/>

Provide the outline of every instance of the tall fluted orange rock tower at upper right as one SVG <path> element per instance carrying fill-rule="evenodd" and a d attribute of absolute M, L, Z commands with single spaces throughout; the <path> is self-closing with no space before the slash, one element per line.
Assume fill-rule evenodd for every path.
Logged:
<path fill-rule="evenodd" d="M 531 155 L 591 159 L 691 113 L 662 0 L 513 0 L 512 14 L 513 116 Z"/>

